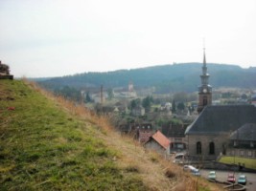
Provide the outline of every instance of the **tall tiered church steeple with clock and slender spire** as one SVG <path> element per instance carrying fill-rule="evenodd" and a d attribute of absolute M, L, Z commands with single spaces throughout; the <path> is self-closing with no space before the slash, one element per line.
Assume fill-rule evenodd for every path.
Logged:
<path fill-rule="evenodd" d="M 203 46 L 201 85 L 198 87 L 198 113 L 207 105 L 212 104 L 212 87 L 209 85 L 210 74 L 207 73 L 205 48 Z"/>

